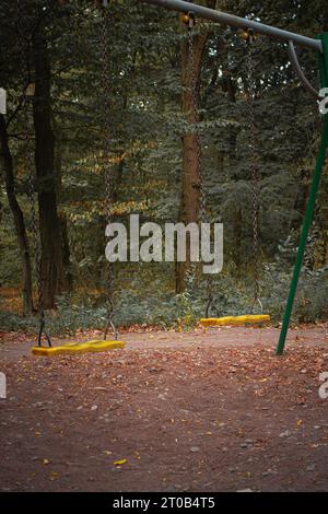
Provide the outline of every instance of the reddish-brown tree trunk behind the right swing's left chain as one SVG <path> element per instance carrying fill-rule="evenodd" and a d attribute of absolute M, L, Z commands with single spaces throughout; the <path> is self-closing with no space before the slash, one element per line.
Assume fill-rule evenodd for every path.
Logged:
<path fill-rule="evenodd" d="M 213 8 L 215 0 L 208 0 L 207 5 Z M 199 97 L 200 74 L 202 56 L 206 49 L 208 34 L 194 36 L 194 77 L 196 82 L 196 94 Z M 185 119 L 195 122 L 192 103 L 192 77 L 190 73 L 188 40 L 181 43 L 181 110 Z M 200 174 L 199 174 L 199 148 L 198 138 L 195 133 L 185 133 L 183 142 L 183 167 L 181 167 L 181 194 L 179 219 L 188 224 L 198 221 L 200 202 Z M 186 277 L 190 269 L 190 242 L 187 240 L 186 261 L 176 265 L 176 293 L 181 293 L 186 288 Z"/>

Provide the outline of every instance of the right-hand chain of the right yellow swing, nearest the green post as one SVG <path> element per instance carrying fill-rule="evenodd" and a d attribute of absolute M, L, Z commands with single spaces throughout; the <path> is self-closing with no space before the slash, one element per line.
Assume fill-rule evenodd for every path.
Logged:
<path fill-rule="evenodd" d="M 247 44 L 247 82 L 248 82 L 248 119 L 249 119 L 249 132 L 248 132 L 248 148 L 250 153 L 250 174 L 251 174 L 251 221 L 253 221 L 253 252 L 254 252 L 254 303 L 259 304 L 262 311 L 260 301 L 260 284 L 259 284 L 259 237 L 258 237 L 258 164 L 256 153 L 256 118 L 255 118 L 255 98 L 256 98 L 256 84 L 255 84 L 255 67 L 254 67 L 254 48 L 253 43 L 255 40 L 254 31 L 247 32 L 248 37 L 246 38 Z"/>

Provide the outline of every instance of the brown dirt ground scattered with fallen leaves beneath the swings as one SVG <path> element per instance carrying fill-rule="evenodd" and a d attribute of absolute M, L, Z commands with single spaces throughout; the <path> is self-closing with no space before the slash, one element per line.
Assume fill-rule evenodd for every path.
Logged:
<path fill-rule="evenodd" d="M 126 334 L 35 358 L 0 335 L 2 491 L 327 491 L 328 326 Z"/>

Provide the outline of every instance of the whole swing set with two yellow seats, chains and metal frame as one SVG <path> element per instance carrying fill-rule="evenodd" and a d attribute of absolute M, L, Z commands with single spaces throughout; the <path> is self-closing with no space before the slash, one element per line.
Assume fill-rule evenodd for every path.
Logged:
<path fill-rule="evenodd" d="M 202 5 L 198 5 L 196 3 L 186 2 L 183 0 L 140 0 L 141 2 L 154 4 L 161 8 L 166 8 L 169 10 L 178 11 L 181 13 L 181 20 L 186 24 L 188 30 L 188 42 L 189 42 L 189 62 L 190 62 L 190 73 L 191 73 L 191 83 L 192 83 L 192 109 L 194 109 L 194 124 L 195 124 L 195 133 L 197 137 L 197 143 L 199 149 L 199 176 L 200 176 L 200 218 L 202 222 L 206 222 L 206 198 L 204 198 L 204 188 L 203 188 L 203 175 L 201 168 L 201 155 L 200 155 L 200 136 L 198 132 L 198 106 L 197 106 L 197 86 L 195 80 L 195 71 L 192 68 L 194 63 L 194 54 L 192 54 L 192 28 L 196 23 L 196 19 L 203 19 L 210 20 L 213 23 L 224 24 L 232 27 L 237 27 L 243 30 L 243 37 L 247 42 L 247 49 L 248 49 L 248 72 L 249 79 L 253 71 L 253 57 L 251 57 L 251 44 L 256 35 L 265 35 L 269 36 L 273 39 L 279 39 L 285 42 L 288 45 L 288 54 L 291 65 L 293 66 L 302 85 L 306 89 L 306 91 L 315 98 L 316 102 L 319 102 L 324 98 L 308 82 L 306 77 L 303 73 L 303 70 L 298 63 L 295 45 L 300 45 L 312 50 L 315 50 L 318 55 L 319 60 L 319 72 L 320 72 L 320 85 L 323 89 L 328 87 L 328 33 L 323 33 L 318 35 L 316 38 L 306 37 L 300 34 L 291 33 L 288 31 L 280 30 L 278 27 L 265 25 L 262 23 L 258 23 L 254 20 L 247 17 L 238 17 L 233 14 L 227 14 L 214 9 L 209 9 Z M 17 0 L 19 3 L 19 0 Z M 104 129 L 105 129 L 105 148 L 104 148 L 104 176 L 105 176 L 105 211 L 106 211 L 106 222 L 108 223 L 110 220 L 110 170 L 109 170 L 109 73 L 108 73 L 108 55 L 107 55 L 107 31 L 108 31 L 108 2 L 103 1 L 103 25 L 101 31 L 101 43 L 102 43 L 102 79 L 103 79 L 103 86 L 105 92 L 105 108 L 104 108 Z M 248 91 L 248 103 L 249 103 L 249 119 L 250 119 L 250 138 L 254 133 L 251 130 L 255 119 L 254 119 L 254 96 L 255 92 L 251 87 Z M 28 94 L 28 87 L 24 91 L 24 105 L 25 105 L 25 122 L 26 122 L 26 135 L 30 133 L 28 131 L 28 109 L 31 105 L 31 95 Z M 255 145 L 256 142 L 253 140 L 249 141 L 250 148 L 250 172 L 251 172 L 251 203 L 253 203 L 253 237 L 254 237 L 254 258 L 255 258 L 255 267 L 257 269 L 258 264 L 258 198 L 257 198 L 257 171 L 255 164 Z M 297 248 L 297 256 L 294 266 L 294 272 L 290 285 L 290 292 L 285 305 L 285 312 L 283 316 L 282 328 L 280 332 L 280 339 L 277 346 L 277 354 L 282 354 L 285 346 L 285 339 L 290 326 L 290 319 L 293 308 L 293 303 L 296 294 L 298 278 L 302 269 L 305 247 L 307 243 L 308 232 L 313 219 L 316 197 L 319 188 L 320 183 L 320 175 L 326 162 L 326 152 L 328 147 L 328 115 L 324 115 L 324 127 L 323 127 L 323 135 L 320 147 L 317 155 L 315 173 L 312 180 L 309 197 L 307 201 L 305 218 L 303 222 L 301 240 Z M 36 230 L 36 222 L 35 222 L 35 208 L 34 208 L 34 188 L 33 188 L 33 179 L 32 179 L 32 155 L 31 155 L 31 145 L 28 145 L 28 141 L 26 144 L 27 154 L 26 154 L 26 163 L 27 163 L 27 172 L 28 172 L 28 184 L 30 184 L 30 199 L 31 199 L 31 208 L 32 208 L 32 218 L 33 218 L 33 232 L 34 232 L 34 245 L 35 245 L 35 256 L 36 256 L 36 273 L 37 273 L 37 284 L 38 284 L 38 313 L 39 313 L 39 336 L 38 336 L 38 346 L 32 349 L 32 352 L 35 355 L 52 355 L 57 353 L 80 353 L 85 351 L 104 351 L 107 349 L 113 348 L 122 348 L 124 343 L 121 341 L 117 341 L 117 331 L 115 325 L 113 323 L 114 317 L 114 306 L 113 306 L 113 270 L 110 265 L 108 264 L 108 280 L 107 280 L 107 305 L 108 305 L 108 320 L 107 327 L 104 335 L 104 340 L 96 340 L 96 341 L 86 341 L 84 343 L 81 342 L 71 342 L 61 347 L 51 347 L 50 338 L 48 337 L 45 330 L 45 314 L 44 314 L 44 306 L 43 306 L 43 297 L 42 297 L 42 283 L 40 283 L 40 250 L 39 250 L 39 237 L 37 235 Z M 207 317 L 200 319 L 200 324 L 202 326 L 225 326 L 225 325 L 245 325 L 245 324 L 259 324 L 266 323 L 270 320 L 270 316 L 268 314 L 262 314 L 261 302 L 259 297 L 259 282 L 258 282 L 258 273 L 256 273 L 255 278 L 255 295 L 254 295 L 254 304 L 258 303 L 260 306 L 261 314 L 246 314 L 243 316 L 226 316 L 226 317 L 218 317 L 211 318 L 209 317 L 210 306 L 213 300 L 212 292 L 210 290 L 210 283 L 208 283 L 209 295 L 208 295 L 208 306 L 207 306 Z M 254 306 L 254 305 L 253 305 Z M 112 327 L 115 340 L 107 341 L 106 336 L 108 328 Z M 42 336 L 45 334 L 48 347 L 45 348 L 42 346 Z"/>

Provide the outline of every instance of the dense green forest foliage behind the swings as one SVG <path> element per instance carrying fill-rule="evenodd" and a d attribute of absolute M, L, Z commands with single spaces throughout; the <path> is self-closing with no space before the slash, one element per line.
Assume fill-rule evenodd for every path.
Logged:
<path fill-rule="evenodd" d="M 0 12 L 0 85 L 9 92 L 9 113 L 19 105 L 26 82 L 20 57 L 15 2 Z M 27 5 L 27 1 L 22 3 Z M 139 1 L 110 1 L 110 91 L 113 218 L 131 212 L 157 223 L 177 221 L 181 188 L 180 138 L 188 129 L 180 112 L 180 43 L 186 34 L 175 13 Z M 122 3 L 125 4 L 122 8 Z M 48 38 L 52 82 L 59 212 L 68 224 L 71 295 L 49 315 L 50 330 L 74 332 L 102 327 L 106 308 L 104 258 L 103 113 L 99 23 L 94 2 L 33 0 L 24 10 L 25 36 L 40 13 Z M 222 5 L 221 5 L 222 4 Z M 255 13 L 263 23 L 314 36 L 326 1 L 226 0 L 220 8 Z M 208 218 L 224 222 L 223 273 L 213 279 L 218 313 L 243 314 L 253 297 L 253 248 L 246 47 L 236 31 L 199 23 L 209 32 L 200 84 L 202 159 Z M 316 56 L 300 50 L 306 75 L 316 84 Z M 257 165 L 259 174 L 261 290 L 265 311 L 281 318 L 320 122 L 317 107 L 302 90 L 288 62 L 285 46 L 260 37 L 254 47 Z M 227 78 L 235 102 L 229 97 Z M 33 77 L 32 77 L 33 79 Z M 22 115 L 11 125 L 15 190 L 30 235 Z M 316 212 L 306 270 L 300 284 L 295 320 L 327 316 L 327 170 Z M 21 265 L 4 187 L 0 190 L 0 282 L 21 283 Z M 30 237 L 31 238 L 31 237 Z M 284 243 L 282 243 L 284 242 Z M 278 257 L 277 257 L 278 256 Z M 314 273 L 314 274 L 311 274 Z M 318 274 L 316 274 L 318 273 Z M 174 294 L 174 268 L 115 267 L 117 323 L 188 327 L 204 314 L 206 285 L 192 282 Z M 89 293 L 81 293 L 81 288 Z M 91 291 L 96 290 L 96 294 Z M 101 291 L 101 292 L 99 292 Z M 1 315 L 1 326 L 35 327 L 33 319 Z"/>

